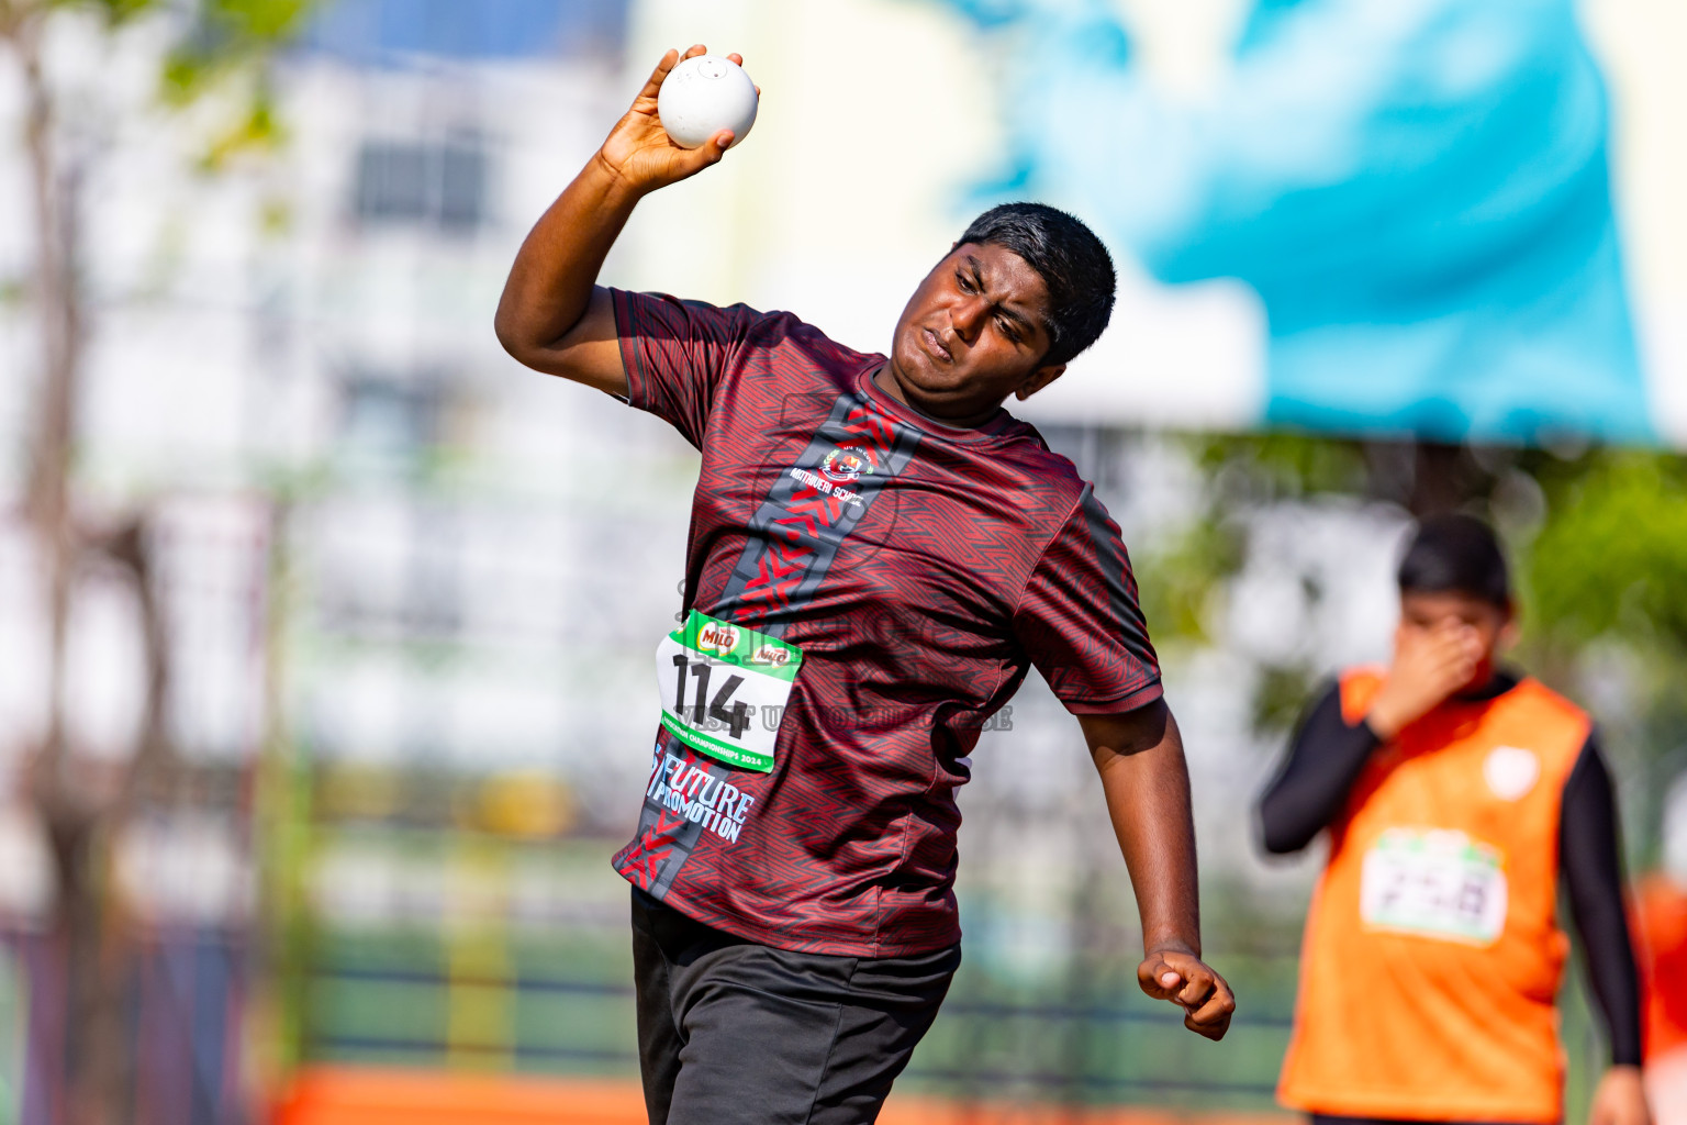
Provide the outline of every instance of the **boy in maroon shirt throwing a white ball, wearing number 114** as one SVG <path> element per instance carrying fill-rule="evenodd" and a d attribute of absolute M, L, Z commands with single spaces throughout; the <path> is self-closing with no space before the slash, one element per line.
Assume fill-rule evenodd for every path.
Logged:
<path fill-rule="evenodd" d="M 997 207 L 914 290 L 889 356 L 786 312 L 597 288 L 638 199 L 730 142 L 663 133 L 678 59 L 528 234 L 496 322 L 521 363 L 703 454 L 688 617 L 658 648 L 649 783 L 614 859 L 649 1120 L 877 1117 L 960 963 L 967 754 L 1032 665 L 1100 771 L 1139 982 L 1218 1039 L 1235 1000 L 1199 958 L 1183 746 L 1118 528 L 1002 410 L 1100 336 L 1107 251 L 1059 211 Z"/>

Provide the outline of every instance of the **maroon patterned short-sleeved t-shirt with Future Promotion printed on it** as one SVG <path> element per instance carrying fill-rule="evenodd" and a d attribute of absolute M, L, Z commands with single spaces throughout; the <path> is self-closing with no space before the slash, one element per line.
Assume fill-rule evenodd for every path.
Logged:
<path fill-rule="evenodd" d="M 884 356 L 791 314 L 614 309 L 629 401 L 703 454 L 687 609 L 803 653 L 771 772 L 658 729 L 616 870 L 776 948 L 953 945 L 955 789 L 984 722 L 1032 665 L 1075 713 L 1161 695 L 1118 528 L 1029 425 L 933 422 L 874 386 Z"/>

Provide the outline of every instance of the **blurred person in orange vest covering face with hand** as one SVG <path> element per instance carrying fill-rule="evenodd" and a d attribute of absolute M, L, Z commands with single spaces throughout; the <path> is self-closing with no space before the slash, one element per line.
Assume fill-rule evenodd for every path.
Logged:
<path fill-rule="evenodd" d="M 1399 582 L 1393 661 L 1312 705 L 1260 801 L 1270 852 L 1329 828 L 1279 1096 L 1314 1122 L 1562 1122 L 1562 884 L 1611 1046 L 1591 1120 L 1647 1125 L 1593 722 L 1495 666 L 1513 612 L 1485 523 L 1424 521 Z"/>

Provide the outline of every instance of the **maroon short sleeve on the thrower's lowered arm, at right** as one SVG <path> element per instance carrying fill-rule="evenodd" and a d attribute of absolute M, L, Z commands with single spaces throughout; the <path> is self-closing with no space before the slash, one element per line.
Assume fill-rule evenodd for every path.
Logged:
<path fill-rule="evenodd" d="M 1043 552 L 1014 632 L 1075 715 L 1127 712 L 1161 697 L 1125 543 L 1088 484 Z"/>

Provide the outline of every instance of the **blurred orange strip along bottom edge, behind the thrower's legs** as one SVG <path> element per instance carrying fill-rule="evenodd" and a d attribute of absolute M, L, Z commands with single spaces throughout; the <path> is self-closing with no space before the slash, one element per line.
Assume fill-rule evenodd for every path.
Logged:
<path fill-rule="evenodd" d="M 1284 1125 L 1280 1113 L 1172 1113 L 1147 1108 L 897 1098 L 882 1125 Z M 526 1078 L 319 1066 L 300 1071 L 272 1125 L 646 1125 L 631 1079 Z"/>

